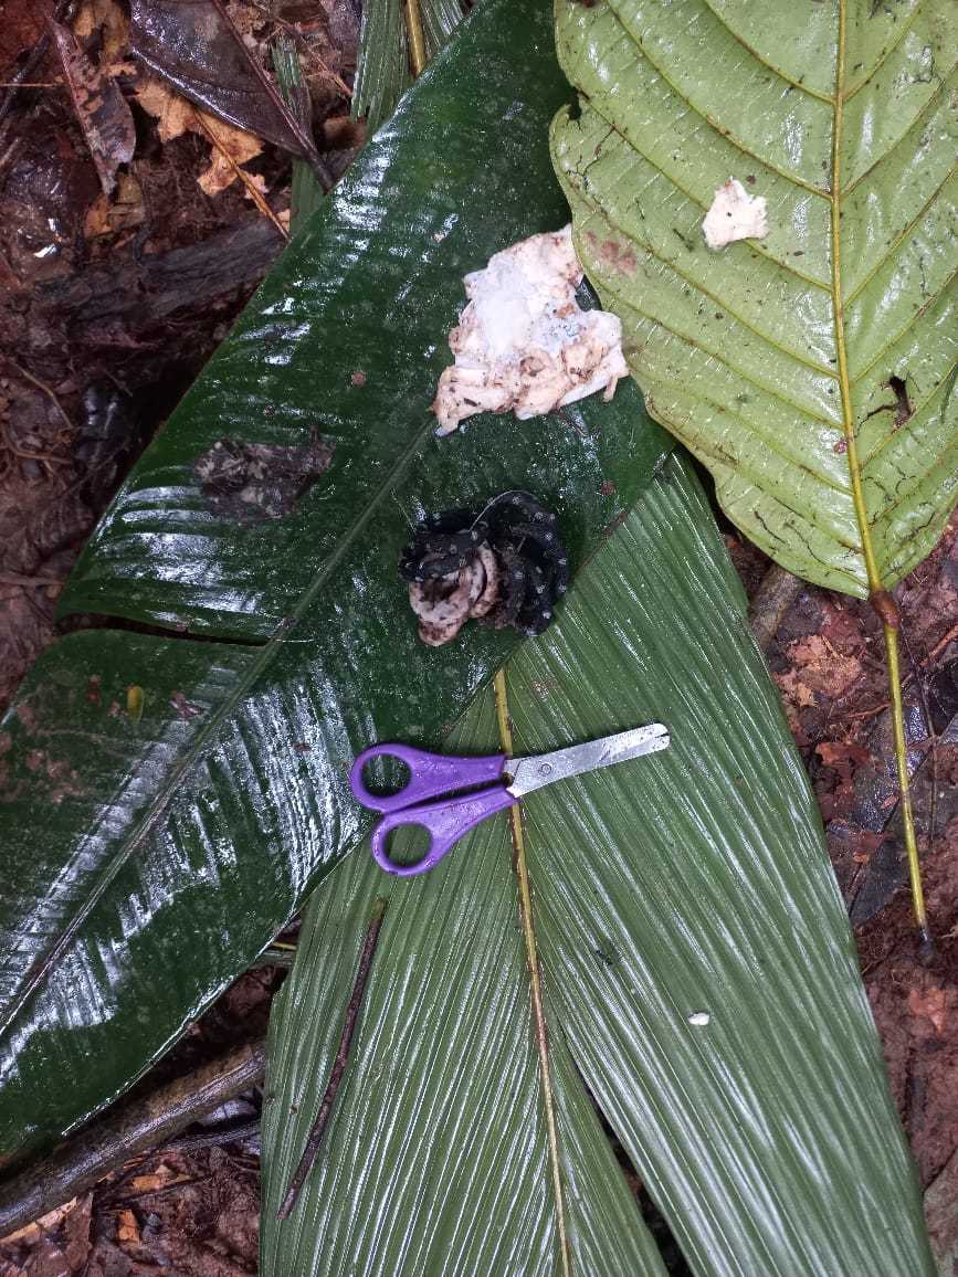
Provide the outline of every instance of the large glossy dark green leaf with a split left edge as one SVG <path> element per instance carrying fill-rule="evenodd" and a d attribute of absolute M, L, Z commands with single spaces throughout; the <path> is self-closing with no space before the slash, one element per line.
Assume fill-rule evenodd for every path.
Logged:
<path fill-rule="evenodd" d="M 543 0 L 494 0 L 465 24 L 280 261 L 65 591 L 64 610 L 181 632 L 61 641 L 0 736 L 8 1156 L 121 1091 L 358 842 L 353 755 L 438 739 L 513 646 L 478 626 L 420 644 L 395 571 L 410 524 L 519 485 L 556 507 L 577 563 L 663 452 L 631 384 L 612 406 L 443 441 L 427 412 L 461 275 L 565 220 L 549 22 Z M 198 453 L 221 435 L 299 444 L 313 425 L 336 453 L 293 515 L 238 527 L 206 510 Z"/>

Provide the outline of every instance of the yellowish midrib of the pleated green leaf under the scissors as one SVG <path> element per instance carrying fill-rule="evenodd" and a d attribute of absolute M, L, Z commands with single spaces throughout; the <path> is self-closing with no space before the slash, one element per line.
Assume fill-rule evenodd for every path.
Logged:
<path fill-rule="evenodd" d="M 496 719 L 499 727 L 499 744 L 507 757 L 512 756 L 512 719 L 508 713 L 508 693 L 506 691 L 506 676 L 502 669 L 497 670 L 493 681 L 496 692 Z M 549 1144 L 549 1162 L 552 1165 L 552 1188 L 556 1194 L 556 1228 L 559 1240 L 559 1257 L 562 1260 L 563 1277 L 570 1277 L 572 1272 L 568 1257 L 568 1236 L 566 1232 L 566 1211 L 562 1197 L 562 1171 L 558 1156 L 558 1134 L 556 1130 L 556 1107 L 552 1102 L 552 1065 L 549 1062 L 549 1034 L 545 1025 L 545 1008 L 542 996 L 542 973 L 539 971 L 539 954 L 535 948 L 535 927 L 533 923 L 533 891 L 529 882 L 529 863 L 525 854 L 525 836 L 522 834 L 522 817 L 520 805 L 513 803 L 508 808 L 508 822 L 512 831 L 512 850 L 515 853 L 516 876 L 519 879 L 519 909 L 522 919 L 522 935 L 525 936 L 525 954 L 529 964 L 529 988 L 533 1002 L 533 1024 L 535 1029 L 535 1048 L 539 1055 L 539 1073 L 542 1075 L 543 1107 L 545 1110 L 545 1131 Z"/>

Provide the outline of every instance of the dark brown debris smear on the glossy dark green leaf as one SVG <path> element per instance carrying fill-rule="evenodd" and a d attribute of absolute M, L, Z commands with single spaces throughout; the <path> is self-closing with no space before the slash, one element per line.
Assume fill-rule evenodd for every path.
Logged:
<path fill-rule="evenodd" d="M 190 475 L 211 513 L 249 527 L 282 518 L 330 467 L 336 444 L 314 437 L 299 447 L 218 439 Z"/>

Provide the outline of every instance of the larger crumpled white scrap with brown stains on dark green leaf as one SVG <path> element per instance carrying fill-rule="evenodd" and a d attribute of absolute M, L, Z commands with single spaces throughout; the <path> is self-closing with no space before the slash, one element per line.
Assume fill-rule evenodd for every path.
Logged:
<path fill-rule="evenodd" d="M 576 303 L 582 267 L 571 226 L 496 253 L 462 282 L 469 305 L 450 333 L 456 361 L 432 405 L 437 434 L 475 412 L 512 409 L 525 421 L 600 389 L 608 400 L 628 375 L 621 321 Z"/>

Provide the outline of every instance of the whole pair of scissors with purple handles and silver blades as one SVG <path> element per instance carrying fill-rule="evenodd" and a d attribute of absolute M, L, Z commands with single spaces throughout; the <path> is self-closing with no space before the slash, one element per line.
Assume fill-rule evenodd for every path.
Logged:
<path fill-rule="evenodd" d="M 505 753 L 462 759 L 429 753 L 410 744 L 374 744 L 356 757 L 349 782 L 364 807 L 384 812 L 373 829 L 373 859 L 387 873 L 410 877 L 438 865 L 470 829 L 493 812 L 517 803 L 533 789 L 626 759 L 657 753 L 668 748 L 668 729 L 662 723 L 651 723 L 533 759 L 507 759 Z M 409 780 L 397 793 L 374 794 L 363 783 L 367 762 L 379 757 L 399 759 L 409 767 Z M 438 801 L 425 802 L 428 798 Z M 420 825 L 429 834 L 429 848 L 415 865 L 397 865 L 386 852 L 387 834 L 401 825 Z"/>

